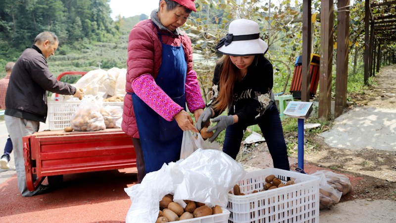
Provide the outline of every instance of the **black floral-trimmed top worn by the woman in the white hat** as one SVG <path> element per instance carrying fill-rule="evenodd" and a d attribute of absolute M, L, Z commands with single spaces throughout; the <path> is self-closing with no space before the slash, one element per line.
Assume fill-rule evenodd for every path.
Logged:
<path fill-rule="evenodd" d="M 258 96 L 269 93 L 273 87 L 273 68 L 270 61 L 264 56 L 259 56 L 258 61 L 254 59 L 252 64 L 247 68 L 247 74 L 241 82 L 234 84 L 233 101 L 228 107 L 228 114 L 237 114 L 238 122 L 251 123 L 256 117 L 264 113 L 261 103 L 258 101 Z M 214 69 L 213 85 L 218 86 L 220 81 L 220 74 L 222 64 L 217 64 Z M 217 89 L 220 91 L 221 86 Z M 212 90 L 213 91 L 213 90 Z M 212 92 L 212 96 L 216 95 Z M 212 97 L 211 103 L 214 101 Z M 218 116 L 223 111 L 216 111 L 215 116 Z"/>

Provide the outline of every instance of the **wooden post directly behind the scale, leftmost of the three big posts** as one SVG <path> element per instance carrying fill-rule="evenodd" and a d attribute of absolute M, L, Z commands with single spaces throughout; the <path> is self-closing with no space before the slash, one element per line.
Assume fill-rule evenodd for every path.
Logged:
<path fill-rule="evenodd" d="M 301 101 L 309 102 L 311 83 L 311 0 L 302 3 L 302 67 L 301 67 Z"/>

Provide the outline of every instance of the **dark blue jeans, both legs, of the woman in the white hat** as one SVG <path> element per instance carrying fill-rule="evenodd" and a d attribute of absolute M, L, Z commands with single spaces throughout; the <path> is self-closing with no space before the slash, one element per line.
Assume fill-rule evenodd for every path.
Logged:
<path fill-rule="evenodd" d="M 223 152 L 234 160 L 240 150 L 244 131 L 247 126 L 258 124 L 263 133 L 268 150 L 275 168 L 290 170 L 288 152 L 283 135 L 283 128 L 279 111 L 273 104 L 265 113 L 256 118 L 252 123 L 235 123 L 226 128 Z"/>

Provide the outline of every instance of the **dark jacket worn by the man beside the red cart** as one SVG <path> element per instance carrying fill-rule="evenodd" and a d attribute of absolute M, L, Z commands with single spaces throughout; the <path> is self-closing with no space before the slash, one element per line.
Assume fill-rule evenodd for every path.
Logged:
<path fill-rule="evenodd" d="M 58 81 L 49 72 L 47 60 L 35 45 L 26 49 L 12 68 L 7 93 L 5 114 L 33 121 L 46 122 L 46 91 L 74 95 L 76 88 Z"/>

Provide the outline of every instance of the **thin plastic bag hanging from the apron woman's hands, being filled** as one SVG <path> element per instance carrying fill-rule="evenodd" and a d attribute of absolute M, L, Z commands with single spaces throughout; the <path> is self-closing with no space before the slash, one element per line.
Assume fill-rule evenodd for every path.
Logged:
<path fill-rule="evenodd" d="M 183 132 L 182 150 L 180 151 L 180 159 L 186 159 L 193 154 L 197 149 L 212 149 L 219 150 L 220 145 L 217 142 L 209 142 L 203 140 L 202 136 L 192 131 Z"/>

